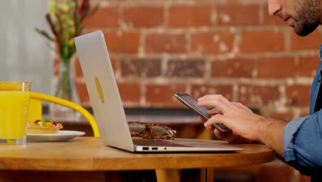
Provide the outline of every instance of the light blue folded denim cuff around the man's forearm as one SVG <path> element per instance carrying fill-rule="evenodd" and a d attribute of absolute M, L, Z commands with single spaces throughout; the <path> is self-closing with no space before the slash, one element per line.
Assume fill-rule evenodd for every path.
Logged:
<path fill-rule="evenodd" d="M 301 117 L 290 121 L 283 131 L 283 153 L 286 162 L 297 160 L 293 147 L 293 137 L 297 133 L 305 119 L 308 117 Z"/>

